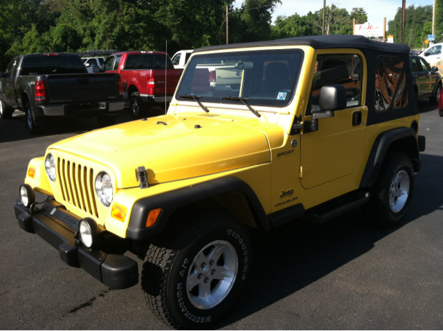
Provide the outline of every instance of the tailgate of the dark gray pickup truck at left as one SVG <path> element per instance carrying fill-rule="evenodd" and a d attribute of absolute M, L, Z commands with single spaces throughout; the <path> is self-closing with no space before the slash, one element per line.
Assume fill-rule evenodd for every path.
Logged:
<path fill-rule="evenodd" d="M 50 104 L 118 100 L 118 73 L 46 75 Z"/>

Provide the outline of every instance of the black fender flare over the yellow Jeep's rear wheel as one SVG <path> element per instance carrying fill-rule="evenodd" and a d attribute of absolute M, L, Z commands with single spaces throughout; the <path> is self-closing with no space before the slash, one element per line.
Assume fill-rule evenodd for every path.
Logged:
<path fill-rule="evenodd" d="M 372 145 L 368 162 L 366 162 L 365 171 L 361 177 L 360 187 L 367 188 L 374 186 L 379 176 L 381 164 L 386 156 L 386 152 L 392 143 L 398 140 L 405 140 L 408 144 L 408 154 L 413 160 L 416 172 L 422 168 L 422 160 L 420 160 L 419 146 L 417 143 L 417 133 L 412 128 L 401 127 L 380 133 Z"/>

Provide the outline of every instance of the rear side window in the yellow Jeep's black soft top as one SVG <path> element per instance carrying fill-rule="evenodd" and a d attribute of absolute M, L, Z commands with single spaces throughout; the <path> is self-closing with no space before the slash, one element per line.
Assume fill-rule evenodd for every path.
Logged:
<path fill-rule="evenodd" d="M 401 57 L 377 57 L 374 98 L 375 111 L 389 111 L 408 104 L 404 61 Z"/>

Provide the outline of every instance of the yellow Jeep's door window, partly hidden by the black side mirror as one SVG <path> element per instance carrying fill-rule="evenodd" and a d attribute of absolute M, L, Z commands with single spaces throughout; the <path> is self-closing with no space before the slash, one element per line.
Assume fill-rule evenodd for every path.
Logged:
<path fill-rule="evenodd" d="M 316 59 L 312 79 L 310 112 L 320 111 L 320 89 L 328 84 L 340 84 L 346 89 L 347 108 L 359 106 L 361 84 L 361 60 L 356 54 L 322 54 Z"/>

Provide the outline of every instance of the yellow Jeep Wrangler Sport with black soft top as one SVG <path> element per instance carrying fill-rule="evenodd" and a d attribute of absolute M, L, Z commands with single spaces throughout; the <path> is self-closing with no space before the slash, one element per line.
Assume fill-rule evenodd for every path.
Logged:
<path fill-rule="evenodd" d="M 226 84 L 214 63 L 236 78 Z M 138 249 L 154 314 L 207 329 L 251 278 L 251 227 L 323 223 L 359 206 L 374 225 L 397 225 L 421 168 L 418 127 L 406 45 L 316 36 L 199 48 L 167 115 L 31 160 L 15 214 L 109 287 L 138 283 L 123 255 Z"/>

